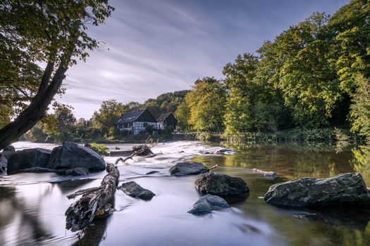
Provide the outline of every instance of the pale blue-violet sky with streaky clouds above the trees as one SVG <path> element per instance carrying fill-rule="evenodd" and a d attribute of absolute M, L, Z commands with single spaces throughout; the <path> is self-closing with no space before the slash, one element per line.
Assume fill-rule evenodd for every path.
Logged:
<path fill-rule="evenodd" d="M 333 14 L 349 0 L 113 0 L 104 25 L 89 33 L 104 44 L 70 67 L 57 101 L 90 119 L 102 101 L 144 103 L 191 89 L 196 79 L 223 79 L 240 53 L 314 12 Z"/>

